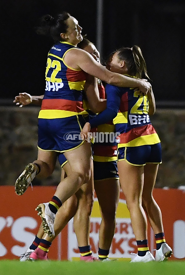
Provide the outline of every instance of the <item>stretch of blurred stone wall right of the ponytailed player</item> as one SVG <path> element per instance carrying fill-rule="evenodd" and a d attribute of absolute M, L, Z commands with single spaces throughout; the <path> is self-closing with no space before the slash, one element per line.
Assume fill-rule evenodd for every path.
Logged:
<path fill-rule="evenodd" d="M 162 144 L 156 187 L 185 185 L 185 109 L 161 109 L 151 117 Z"/>

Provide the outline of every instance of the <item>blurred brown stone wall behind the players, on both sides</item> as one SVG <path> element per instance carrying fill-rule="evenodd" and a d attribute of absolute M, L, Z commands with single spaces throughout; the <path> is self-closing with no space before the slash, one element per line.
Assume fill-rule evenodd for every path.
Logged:
<path fill-rule="evenodd" d="M 0 185 L 14 185 L 25 165 L 37 157 L 38 107 L 0 106 Z M 151 117 L 162 144 L 156 187 L 185 185 L 185 110 L 159 109 Z M 54 173 L 33 184 L 57 185 L 60 181 L 57 161 Z"/>

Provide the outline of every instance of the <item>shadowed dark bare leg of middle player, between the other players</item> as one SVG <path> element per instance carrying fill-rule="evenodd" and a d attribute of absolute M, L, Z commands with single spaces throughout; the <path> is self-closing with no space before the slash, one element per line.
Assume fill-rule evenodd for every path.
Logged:
<path fill-rule="evenodd" d="M 101 211 L 99 247 L 109 250 L 115 231 L 116 209 L 119 202 L 119 180 L 106 179 L 94 182 Z"/>

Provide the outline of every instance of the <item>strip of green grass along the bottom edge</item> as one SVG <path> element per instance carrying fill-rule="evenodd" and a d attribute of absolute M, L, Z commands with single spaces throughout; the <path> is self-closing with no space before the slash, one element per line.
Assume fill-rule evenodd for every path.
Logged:
<path fill-rule="evenodd" d="M 185 261 L 129 263 L 129 262 L 69 262 L 1 260 L 1 275 L 184 275 Z"/>

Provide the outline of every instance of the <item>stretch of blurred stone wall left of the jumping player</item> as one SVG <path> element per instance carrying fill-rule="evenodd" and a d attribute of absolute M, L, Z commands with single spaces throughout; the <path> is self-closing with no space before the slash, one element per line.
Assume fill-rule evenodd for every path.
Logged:
<path fill-rule="evenodd" d="M 37 159 L 37 117 L 39 107 L 0 106 L 0 185 L 14 185 L 25 165 Z M 33 184 L 57 185 L 60 165 L 50 178 Z"/>

